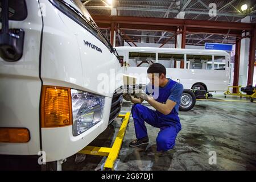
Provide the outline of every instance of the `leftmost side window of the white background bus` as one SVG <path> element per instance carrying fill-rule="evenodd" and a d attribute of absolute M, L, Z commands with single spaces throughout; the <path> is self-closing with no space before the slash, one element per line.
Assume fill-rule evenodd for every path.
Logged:
<path fill-rule="evenodd" d="M 130 67 L 149 67 L 155 63 L 155 53 L 129 52 Z"/>

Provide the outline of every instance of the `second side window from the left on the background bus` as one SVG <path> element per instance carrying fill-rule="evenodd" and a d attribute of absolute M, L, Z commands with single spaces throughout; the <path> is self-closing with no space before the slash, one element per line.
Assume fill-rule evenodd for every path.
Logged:
<path fill-rule="evenodd" d="M 158 53 L 158 63 L 163 64 L 166 68 L 177 68 L 177 61 L 184 61 L 184 55 L 173 53 Z"/>

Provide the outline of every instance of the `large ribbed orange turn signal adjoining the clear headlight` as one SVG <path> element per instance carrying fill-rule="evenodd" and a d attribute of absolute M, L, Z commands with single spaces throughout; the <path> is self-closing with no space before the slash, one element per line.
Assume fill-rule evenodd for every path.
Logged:
<path fill-rule="evenodd" d="M 71 89 L 43 86 L 41 98 L 41 126 L 61 127 L 72 125 Z"/>

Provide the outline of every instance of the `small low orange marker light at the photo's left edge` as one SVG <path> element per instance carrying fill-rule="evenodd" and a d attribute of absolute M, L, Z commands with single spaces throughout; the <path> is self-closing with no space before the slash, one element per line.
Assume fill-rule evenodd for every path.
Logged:
<path fill-rule="evenodd" d="M 0 127 L 0 142 L 24 143 L 30 140 L 30 132 L 25 128 Z"/>

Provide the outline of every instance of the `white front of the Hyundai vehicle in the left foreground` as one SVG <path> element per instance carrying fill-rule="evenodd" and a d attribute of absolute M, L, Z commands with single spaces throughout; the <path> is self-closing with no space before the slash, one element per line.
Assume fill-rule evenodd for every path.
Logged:
<path fill-rule="evenodd" d="M 49 169 L 44 162 L 55 168 L 119 113 L 122 96 L 114 92 L 121 79 L 115 76 L 122 71 L 79 0 L 7 2 L 1 3 L 0 36 L 22 31 L 24 38 L 15 39 L 21 55 L 19 44 L 8 47 L 0 39 L 1 168 Z"/>

